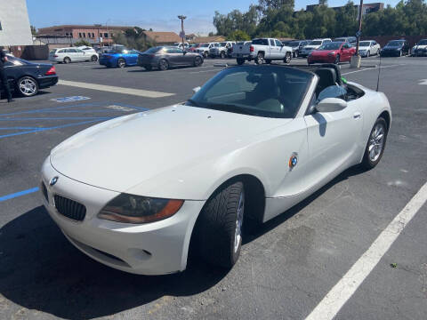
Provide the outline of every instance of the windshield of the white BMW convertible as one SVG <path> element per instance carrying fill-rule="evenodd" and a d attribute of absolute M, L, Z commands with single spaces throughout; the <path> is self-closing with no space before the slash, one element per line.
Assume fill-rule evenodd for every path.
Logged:
<path fill-rule="evenodd" d="M 293 118 L 312 76 L 279 66 L 227 68 L 209 80 L 186 105 L 250 116 Z"/>

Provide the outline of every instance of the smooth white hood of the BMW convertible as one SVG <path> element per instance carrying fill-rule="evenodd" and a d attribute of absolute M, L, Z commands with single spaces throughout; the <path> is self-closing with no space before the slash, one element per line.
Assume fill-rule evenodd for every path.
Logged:
<path fill-rule="evenodd" d="M 52 150 L 51 164 L 70 179 L 117 192 L 142 184 L 144 196 L 151 196 L 150 189 L 291 121 L 182 105 L 158 108 L 77 133 Z"/>

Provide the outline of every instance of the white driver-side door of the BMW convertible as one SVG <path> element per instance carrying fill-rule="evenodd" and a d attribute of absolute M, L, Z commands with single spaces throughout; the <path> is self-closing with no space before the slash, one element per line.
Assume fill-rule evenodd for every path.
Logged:
<path fill-rule="evenodd" d="M 322 97 L 322 92 L 319 94 Z M 328 98 L 328 96 L 325 96 Z M 331 95 L 329 98 L 334 98 Z M 312 102 L 315 106 L 318 101 Z M 356 164 L 359 155 L 359 139 L 363 115 L 358 100 L 350 100 L 347 107 L 335 112 L 317 112 L 310 108 L 304 116 L 310 150 L 310 171 L 307 183 L 316 184 L 336 171 Z M 307 188 L 310 188 L 308 185 Z"/>

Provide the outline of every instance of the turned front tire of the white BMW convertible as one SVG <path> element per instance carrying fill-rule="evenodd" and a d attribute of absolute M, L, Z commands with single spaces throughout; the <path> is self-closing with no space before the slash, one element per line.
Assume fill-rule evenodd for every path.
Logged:
<path fill-rule="evenodd" d="M 242 246 L 245 188 L 241 181 L 230 181 L 207 200 L 197 220 L 199 255 L 208 263 L 231 268 Z"/>

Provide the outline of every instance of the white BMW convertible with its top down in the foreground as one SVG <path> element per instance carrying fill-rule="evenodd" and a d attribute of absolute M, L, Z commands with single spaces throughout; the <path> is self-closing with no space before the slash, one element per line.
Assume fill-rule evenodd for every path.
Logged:
<path fill-rule="evenodd" d="M 42 168 L 44 206 L 79 250 L 144 275 L 182 271 L 189 246 L 238 260 L 242 227 L 270 220 L 340 172 L 380 161 L 382 92 L 339 68 L 225 68 L 185 104 L 79 132 Z"/>

